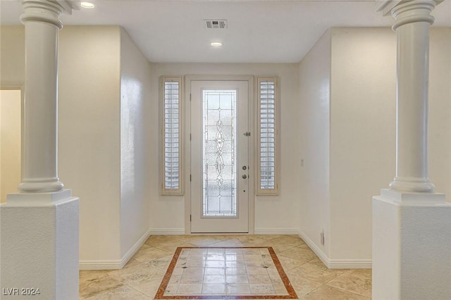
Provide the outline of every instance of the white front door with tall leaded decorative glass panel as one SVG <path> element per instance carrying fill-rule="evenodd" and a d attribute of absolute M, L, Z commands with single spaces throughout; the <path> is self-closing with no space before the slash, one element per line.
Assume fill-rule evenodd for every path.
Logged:
<path fill-rule="evenodd" d="M 249 232 L 249 81 L 188 83 L 191 232 Z"/>

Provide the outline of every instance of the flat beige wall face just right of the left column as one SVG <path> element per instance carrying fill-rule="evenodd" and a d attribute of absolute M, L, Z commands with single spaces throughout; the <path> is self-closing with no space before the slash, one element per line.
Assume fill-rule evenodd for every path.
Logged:
<path fill-rule="evenodd" d="M 80 197 L 80 261 L 121 258 L 121 30 L 59 33 L 59 176 Z"/>

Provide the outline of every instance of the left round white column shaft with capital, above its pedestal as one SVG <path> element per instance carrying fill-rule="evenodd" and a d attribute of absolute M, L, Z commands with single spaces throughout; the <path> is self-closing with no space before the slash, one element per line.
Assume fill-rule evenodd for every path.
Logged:
<path fill-rule="evenodd" d="M 57 192 L 58 19 L 57 1 L 23 0 L 25 13 L 25 106 L 21 192 Z"/>

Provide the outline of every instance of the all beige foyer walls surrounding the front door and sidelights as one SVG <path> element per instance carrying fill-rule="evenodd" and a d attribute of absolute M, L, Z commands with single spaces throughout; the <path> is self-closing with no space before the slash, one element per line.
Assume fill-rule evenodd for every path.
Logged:
<path fill-rule="evenodd" d="M 1 84 L 21 85 L 23 27 L 1 27 L 0 37 Z M 371 196 L 395 175 L 395 35 L 389 28 L 333 28 L 299 65 L 151 63 L 151 75 L 120 27 L 66 26 L 59 43 L 59 175 L 80 196 L 80 260 L 118 263 L 146 226 L 184 230 L 183 197 L 159 196 L 156 171 L 158 78 L 184 74 L 278 75 L 280 195 L 256 197 L 256 230 L 300 230 L 332 263 L 371 260 Z M 437 191 L 447 194 L 450 49 L 450 28 L 433 28 L 430 173 Z M 125 149 L 129 143 L 133 148 Z"/>

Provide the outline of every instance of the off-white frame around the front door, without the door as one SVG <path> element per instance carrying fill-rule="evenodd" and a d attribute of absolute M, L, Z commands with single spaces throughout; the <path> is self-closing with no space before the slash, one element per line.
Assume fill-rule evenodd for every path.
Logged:
<path fill-rule="evenodd" d="M 185 76 L 185 234 L 191 234 L 191 149 L 190 149 L 190 128 L 191 128 L 191 110 L 190 95 L 192 81 L 247 81 L 249 87 L 249 235 L 254 234 L 254 76 L 252 75 L 186 75 Z"/>

